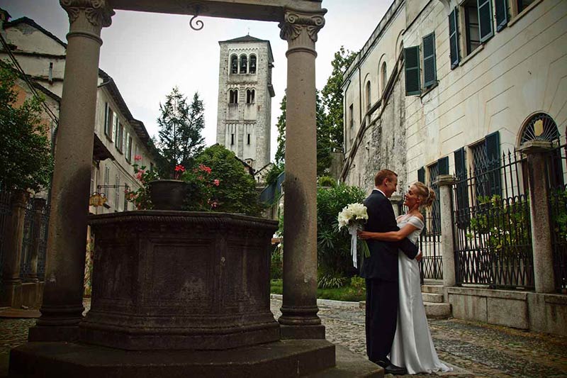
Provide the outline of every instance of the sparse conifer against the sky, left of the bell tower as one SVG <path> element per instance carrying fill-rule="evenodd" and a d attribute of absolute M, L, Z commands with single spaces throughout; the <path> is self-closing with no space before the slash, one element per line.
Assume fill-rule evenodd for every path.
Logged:
<path fill-rule="evenodd" d="M 159 140 L 157 148 L 163 159 L 158 160 L 162 177 L 172 177 L 177 165 L 192 167 L 193 160 L 205 146 L 201 131 L 205 128 L 203 101 L 198 92 L 191 104 L 177 87 L 159 104 L 162 114 L 157 118 Z"/>

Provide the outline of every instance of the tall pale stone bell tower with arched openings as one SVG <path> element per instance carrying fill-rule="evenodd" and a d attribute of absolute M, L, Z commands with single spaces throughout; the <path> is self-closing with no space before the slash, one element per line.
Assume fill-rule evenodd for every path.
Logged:
<path fill-rule="evenodd" d="M 270 157 L 271 46 L 251 35 L 219 45 L 217 143 L 258 170 Z"/>

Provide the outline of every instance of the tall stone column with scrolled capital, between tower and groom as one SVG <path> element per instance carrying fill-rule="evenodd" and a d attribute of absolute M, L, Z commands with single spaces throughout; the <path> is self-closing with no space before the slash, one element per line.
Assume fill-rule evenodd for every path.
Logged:
<path fill-rule="evenodd" d="M 287 9 L 286 198 L 283 203 L 282 338 L 325 338 L 317 313 L 317 155 L 315 42 L 325 10 Z"/>

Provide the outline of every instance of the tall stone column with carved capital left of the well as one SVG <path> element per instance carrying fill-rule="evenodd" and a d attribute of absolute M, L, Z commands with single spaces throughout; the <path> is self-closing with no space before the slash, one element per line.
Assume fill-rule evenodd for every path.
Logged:
<path fill-rule="evenodd" d="M 86 216 L 89 209 L 101 28 L 108 0 L 60 0 L 69 15 L 60 122 L 55 149 L 45 289 L 30 341 L 77 340 L 83 312 Z"/>

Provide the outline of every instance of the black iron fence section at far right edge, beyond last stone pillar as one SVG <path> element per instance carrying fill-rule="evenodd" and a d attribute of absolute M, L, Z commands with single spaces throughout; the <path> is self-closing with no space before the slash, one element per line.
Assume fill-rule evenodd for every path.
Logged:
<path fill-rule="evenodd" d="M 566 160 L 567 145 L 551 151 L 546 159 L 555 288 L 556 291 L 565 294 L 567 294 L 567 185 L 564 184 L 563 166 Z"/>

